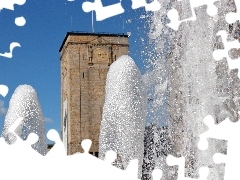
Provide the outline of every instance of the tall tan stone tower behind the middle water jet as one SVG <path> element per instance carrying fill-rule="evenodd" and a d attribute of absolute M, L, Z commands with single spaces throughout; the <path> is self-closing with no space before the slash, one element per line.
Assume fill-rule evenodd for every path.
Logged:
<path fill-rule="evenodd" d="M 99 133 L 109 66 L 128 55 L 128 35 L 68 32 L 60 48 L 61 131 L 67 154 L 82 152 L 91 139 L 90 153 L 98 156 Z"/>

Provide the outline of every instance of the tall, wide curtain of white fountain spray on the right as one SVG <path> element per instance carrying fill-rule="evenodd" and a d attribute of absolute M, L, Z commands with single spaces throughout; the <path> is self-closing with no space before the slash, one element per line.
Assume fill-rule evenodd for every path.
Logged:
<path fill-rule="evenodd" d="M 153 13 L 149 38 L 155 48 L 148 52 L 149 57 L 153 57 L 149 63 L 153 64 L 154 77 L 165 78 L 168 82 L 165 92 L 168 93 L 168 126 L 174 145 L 172 153 L 186 157 L 186 176 L 198 178 L 198 167 L 211 165 L 209 178 L 223 179 L 224 165 L 209 164 L 210 157 L 202 156 L 197 142 L 199 134 L 206 131 L 203 124 L 206 115 L 213 115 L 216 123 L 226 117 L 233 121 L 238 119 L 240 96 L 236 93 L 239 87 L 236 73 L 229 73 L 226 59 L 216 62 L 212 57 L 213 50 L 222 46 L 216 33 L 219 29 L 229 29 L 223 17 L 234 11 L 234 2 L 217 2 L 218 14 L 214 17 L 207 15 L 206 6 L 198 7 L 195 9 L 197 20 L 182 23 L 178 31 L 166 26 L 169 22 L 166 12 L 174 3 L 163 0 L 162 11 Z M 182 17 L 184 13 L 188 12 L 180 11 Z M 209 154 L 219 148 L 226 150 L 226 146 L 216 143 Z"/>

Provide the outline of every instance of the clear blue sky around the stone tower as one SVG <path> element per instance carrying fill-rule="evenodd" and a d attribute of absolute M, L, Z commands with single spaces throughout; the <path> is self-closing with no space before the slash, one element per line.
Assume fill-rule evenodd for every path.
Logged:
<path fill-rule="evenodd" d="M 0 97 L 2 110 L 21 84 L 33 86 L 38 93 L 43 115 L 47 118 L 46 131 L 54 128 L 60 132 L 60 53 L 59 48 L 68 31 L 92 32 L 92 14 L 82 10 L 83 0 L 26 0 L 22 6 L 15 5 L 14 11 L 0 11 L 0 53 L 9 52 L 11 42 L 21 47 L 13 51 L 13 58 L 0 56 L 0 84 L 9 87 L 6 97 Z M 102 0 L 103 5 L 118 3 L 118 0 Z M 125 12 L 121 15 L 96 22 L 95 32 L 127 33 L 130 56 L 135 60 L 142 74 L 145 72 L 141 51 L 147 46 L 147 26 L 144 8 L 133 10 L 131 0 L 123 0 Z M 16 26 L 16 17 L 23 16 L 26 25 Z M 143 41 L 144 40 L 144 41 Z M 0 130 L 4 115 L 0 116 Z"/>

